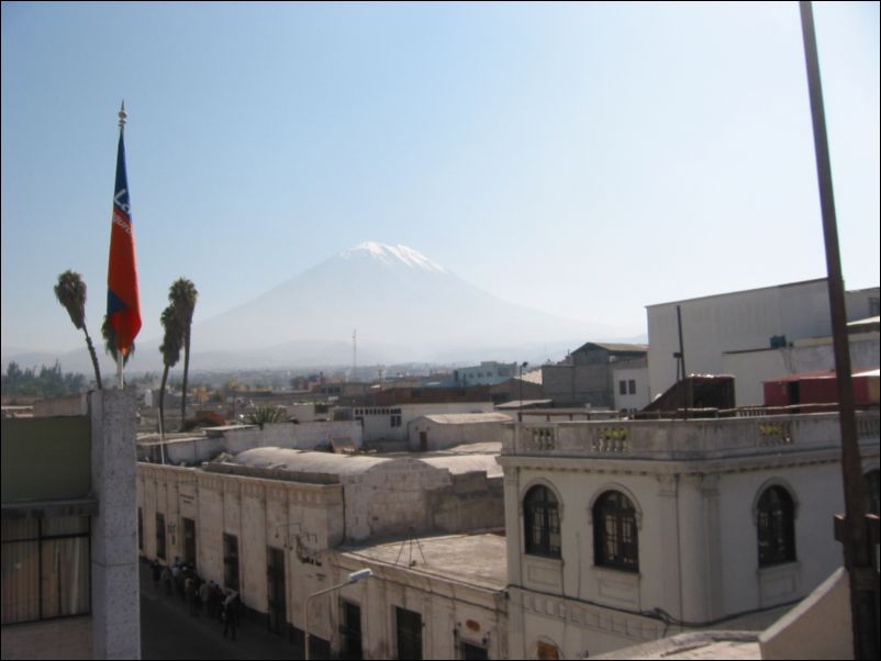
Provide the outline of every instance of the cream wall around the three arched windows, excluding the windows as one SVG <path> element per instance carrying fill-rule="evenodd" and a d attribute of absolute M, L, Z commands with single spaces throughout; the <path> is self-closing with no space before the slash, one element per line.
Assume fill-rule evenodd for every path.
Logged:
<path fill-rule="evenodd" d="M 639 425 L 627 427 L 634 445 L 629 460 L 613 456 L 621 450 L 592 452 L 590 444 L 580 450 L 564 447 L 560 433 L 545 437 L 559 455 L 523 446 L 523 439 L 521 455 L 506 446 L 499 461 L 505 472 L 509 581 L 517 589 L 512 590 L 510 612 L 512 658 L 535 658 L 542 636 L 560 646 L 561 658 L 578 658 L 679 632 L 640 615 L 655 608 L 690 627 L 715 623 L 720 628 L 720 618 L 779 608 L 807 595 L 841 564 L 840 545 L 832 534 L 833 517 L 843 509 L 840 450 L 835 426 L 822 422 L 826 418 L 796 417 L 804 419 L 805 429 L 792 444 L 780 446 L 782 451 L 759 447 L 760 455 L 713 460 L 650 460 L 643 446 L 635 447 Z M 868 470 L 878 463 L 877 416 L 863 423 L 861 451 Z M 702 456 L 709 450 L 700 439 L 704 426 L 735 435 L 748 430 L 737 421 L 654 428 L 660 445 Z M 817 437 L 824 430 L 829 436 Z M 681 437 L 677 444 L 668 438 L 672 434 Z M 733 437 L 731 442 L 740 441 Z M 550 488 L 560 503 L 561 559 L 524 552 L 522 503 L 535 484 Z M 759 568 L 755 504 L 770 484 L 783 485 L 795 501 L 796 560 Z M 593 563 L 591 507 L 606 490 L 623 492 L 636 507 L 638 573 Z M 725 626 L 760 629 L 779 615 L 765 610 L 748 623 L 729 620 Z"/>

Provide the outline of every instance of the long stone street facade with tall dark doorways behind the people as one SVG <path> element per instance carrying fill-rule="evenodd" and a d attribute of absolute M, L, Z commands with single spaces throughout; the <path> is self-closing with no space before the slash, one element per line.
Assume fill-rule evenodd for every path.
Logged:
<path fill-rule="evenodd" d="M 183 556 L 181 518 L 191 518 L 197 530 L 197 571 L 221 585 L 223 534 L 235 535 L 239 594 L 248 608 L 259 613 L 268 610 L 266 548 L 283 548 L 288 620 L 301 629 L 306 597 L 326 586 L 322 582 L 326 550 L 343 539 L 338 484 L 279 482 L 140 463 L 137 504 L 144 517 L 144 556 L 156 557 L 157 511 L 165 515 L 169 563 Z"/>

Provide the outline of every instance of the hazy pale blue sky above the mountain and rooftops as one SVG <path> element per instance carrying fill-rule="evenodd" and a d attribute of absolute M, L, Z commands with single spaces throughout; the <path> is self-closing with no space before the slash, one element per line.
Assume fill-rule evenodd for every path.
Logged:
<path fill-rule="evenodd" d="M 877 285 L 879 5 L 815 18 L 846 284 Z M 123 98 L 141 340 L 180 276 L 198 322 L 365 240 L 623 335 L 826 273 L 795 2 L 3 2 L 4 347 L 82 346 L 66 269 L 99 335 Z"/>

